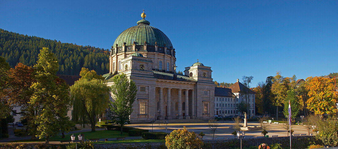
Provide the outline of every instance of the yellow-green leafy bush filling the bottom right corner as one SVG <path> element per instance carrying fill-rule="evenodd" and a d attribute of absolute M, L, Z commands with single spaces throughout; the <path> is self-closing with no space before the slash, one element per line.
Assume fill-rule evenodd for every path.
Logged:
<path fill-rule="evenodd" d="M 323 141 L 324 144 L 338 146 L 338 119 L 336 117 L 319 121 L 317 130 L 319 131 L 316 135 L 317 139 Z"/>

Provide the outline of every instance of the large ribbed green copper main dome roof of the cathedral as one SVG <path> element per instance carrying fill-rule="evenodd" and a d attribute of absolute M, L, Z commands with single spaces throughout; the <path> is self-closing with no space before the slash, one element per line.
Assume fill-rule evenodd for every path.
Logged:
<path fill-rule="evenodd" d="M 114 47 L 131 46 L 136 42 L 136 45 L 144 45 L 144 41 L 148 46 L 155 46 L 155 42 L 159 47 L 167 47 L 172 49 L 172 44 L 169 38 L 159 29 L 149 26 L 150 22 L 147 20 L 140 20 L 137 26 L 130 27 L 124 30 L 115 40 Z"/>

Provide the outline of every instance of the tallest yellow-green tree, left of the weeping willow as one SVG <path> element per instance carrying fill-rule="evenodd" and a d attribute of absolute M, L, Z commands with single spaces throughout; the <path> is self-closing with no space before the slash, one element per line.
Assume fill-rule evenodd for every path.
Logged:
<path fill-rule="evenodd" d="M 59 65 L 48 48 L 40 51 L 34 68 L 36 82 L 30 87 L 33 94 L 29 103 L 37 114 L 30 123 L 37 125 L 35 136 L 45 137 L 48 144 L 50 137 L 59 134 L 60 121 L 70 109 L 69 86 L 55 76 Z"/>

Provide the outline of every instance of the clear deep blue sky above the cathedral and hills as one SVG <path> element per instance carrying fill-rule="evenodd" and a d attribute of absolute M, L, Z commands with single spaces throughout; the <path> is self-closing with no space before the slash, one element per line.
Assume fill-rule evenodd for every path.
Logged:
<path fill-rule="evenodd" d="M 281 71 L 298 79 L 337 72 L 338 1 L 0 1 L 0 28 L 110 49 L 141 20 L 162 30 L 178 70 L 199 62 L 214 81 L 251 86 Z"/>

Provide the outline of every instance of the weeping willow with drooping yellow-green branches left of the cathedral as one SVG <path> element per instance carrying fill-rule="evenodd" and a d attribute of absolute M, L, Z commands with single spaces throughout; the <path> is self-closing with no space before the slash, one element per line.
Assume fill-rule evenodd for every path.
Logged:
<path fill-rule="evenodd" d="M 95 131 L 98 115 L 108 108 L 110 88 L 103 80 L 81 78 L 70 87 L 73 120 L 91 124 Z"/>

